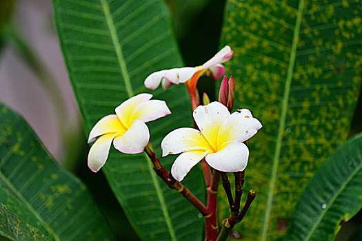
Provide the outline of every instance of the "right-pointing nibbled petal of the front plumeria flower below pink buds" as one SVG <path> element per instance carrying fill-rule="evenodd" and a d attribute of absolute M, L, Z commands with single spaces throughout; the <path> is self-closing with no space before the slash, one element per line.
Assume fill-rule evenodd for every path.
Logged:
<path fill-rule="evenodd" d="M 257 134 L 263 127 L 257 118 L 253 118 L 249 109 L 239 109 L 232 113 L 221 125 L 217 138 L 218 146 L 229 141 L 244 142 Z"/>

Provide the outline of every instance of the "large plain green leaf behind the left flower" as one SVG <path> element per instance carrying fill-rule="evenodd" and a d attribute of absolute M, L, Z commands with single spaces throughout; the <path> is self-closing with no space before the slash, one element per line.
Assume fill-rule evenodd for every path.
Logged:
<path fill-rule="evenodd" d="M 168 9 L 161 0 L 53 3 L 87 133 L 125 99 L 146 92 L 143 81 L 148 74 L 182 65 Z M 172 111 L 172 115 L 148 123 L 152 144 L 161 156 L 162 138 L 174 128 L 192 125 L 190 102 L 182 85 L 165 92 L 160 88 L 152 94 L 165 100 Z M 170 169 L 170 158 L 162 158 L 161 163 Z M 202 220 L 197 211 L 154 174 L 145 154 L 121 154 L 112 147 L 103 171 L 140 238 L 201 238 Z M 203 199 L 200 170 L 192 170 L 186 179 L 185 185 Z"/>

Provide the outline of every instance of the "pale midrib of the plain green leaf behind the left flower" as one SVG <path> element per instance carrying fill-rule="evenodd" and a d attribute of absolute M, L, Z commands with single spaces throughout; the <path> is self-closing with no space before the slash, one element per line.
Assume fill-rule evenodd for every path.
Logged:
<path fill-rule="evenodd" d="M 121 74 L 123 76 L 123 81 L 125 83 L 125 89 L 127 90 L 128 97 L 130 98 L 130 97 L 134 96 L 134 92 L 133 92 L 132 84 L 130 81 L 130 74 L 128 73 L 127 66 L 125 65 L 125 59 L 123 57 L 121 45 L 119 43 L 119 39 L 117 36 L 117 30 L 114 27 L 112 15 L 110 14 L 110 7 L 108 6 L 108 3 L 106 0 L 100 0 L 100 1 L 101 1 L 101 5 L 103 8 L 105 19 L 107 21 L 108 29 L 110 30 L 110 36 L 112 39 L 112 43 L 114 45 L 114 49 L 116 50 L 119 67 L 121 67 Z M 147 156 L 145 156 L 145 160 L 148 163 L 148 167 L 150 167 L 150 160 L 148 160 Z M 152 167 L 149 168 L 149 171 L 150 171 L 150 175 L 152 176 L 152 182 L 154 184 L 154 189 L 156 190 L 156 193 L 157 193 L 157 198 L 159 198 L 161 210 L 162 210 L 163 216 L 165 218 L 165 222 L 168 227 L 169 234 L 171 236 L 172 241 L 176 241 L 177 238 L 175 235 L 174 228 L 172 226 L 170 213 L 168 213 L 168 208 L 165 205 L 165 198 L 163 197 L 161 187 L 159 186 L 159 180 L 157 180 L 157 176 L 156 176 L 156 174 L 154 174 Z"/>

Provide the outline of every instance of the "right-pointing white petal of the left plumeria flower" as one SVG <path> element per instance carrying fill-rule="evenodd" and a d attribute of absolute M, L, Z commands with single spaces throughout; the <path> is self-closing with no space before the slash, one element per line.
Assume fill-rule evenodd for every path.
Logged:
<path fill-rule="evenodd" d="M 143 102 L 134 108 L 132 118 L 143 122 L 154 121 L 171 114 L 165 101 L 151 100 Z"/>

